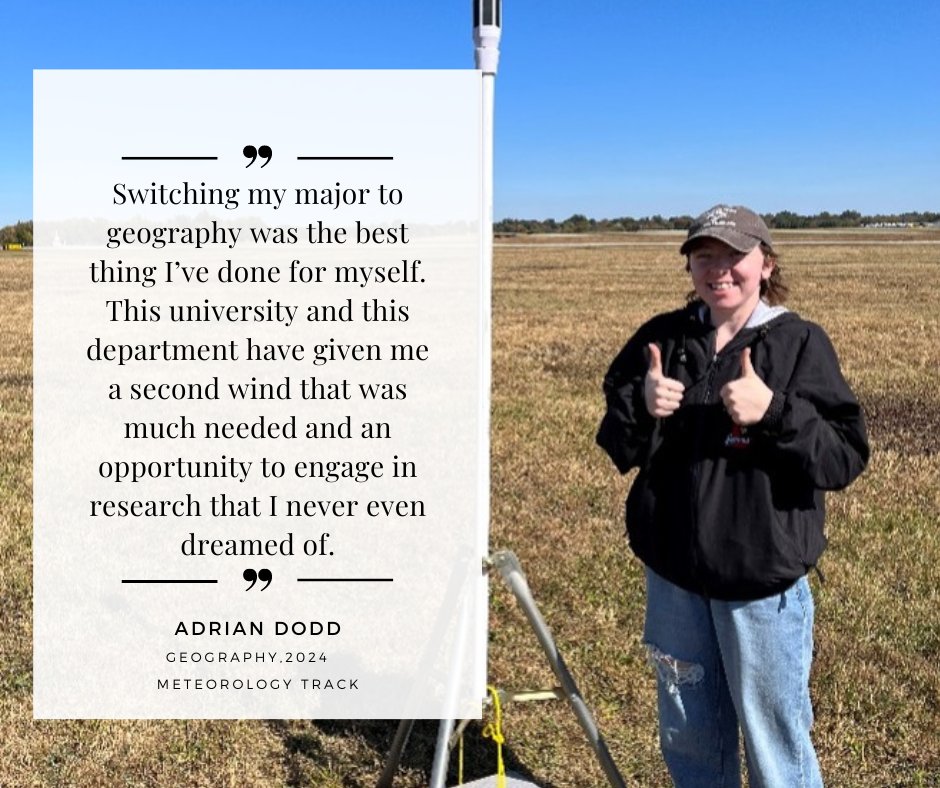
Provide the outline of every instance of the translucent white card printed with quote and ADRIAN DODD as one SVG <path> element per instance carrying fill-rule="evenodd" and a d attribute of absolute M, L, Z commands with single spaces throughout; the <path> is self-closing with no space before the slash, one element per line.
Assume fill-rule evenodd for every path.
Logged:
<path fill-rule="evenodd" d="M 479 717 L 479 72 L 34 107 L 34 715 Z"/>

